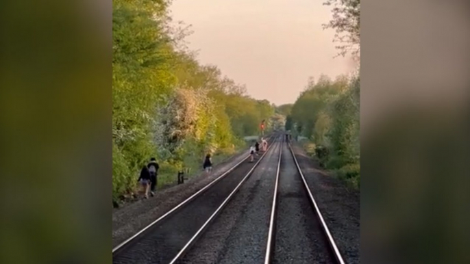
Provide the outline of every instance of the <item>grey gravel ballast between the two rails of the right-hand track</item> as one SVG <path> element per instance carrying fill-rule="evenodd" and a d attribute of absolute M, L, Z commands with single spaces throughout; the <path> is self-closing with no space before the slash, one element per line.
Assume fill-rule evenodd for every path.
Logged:
<path fill-rule="evenodd" d="M 287 144 L 282 148 L 272 263 L 334 263 Z"/>

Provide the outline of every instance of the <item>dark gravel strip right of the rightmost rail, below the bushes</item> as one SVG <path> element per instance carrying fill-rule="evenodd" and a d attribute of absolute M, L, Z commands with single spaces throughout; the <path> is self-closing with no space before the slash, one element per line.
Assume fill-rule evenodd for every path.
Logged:
<path fill-rule="evenodd" d="M 359 192 L 348 189 L 345 183 L 321 170 L 297 144 L 292 148 L 343 259 L 348 264 L 360 263 Z"/>

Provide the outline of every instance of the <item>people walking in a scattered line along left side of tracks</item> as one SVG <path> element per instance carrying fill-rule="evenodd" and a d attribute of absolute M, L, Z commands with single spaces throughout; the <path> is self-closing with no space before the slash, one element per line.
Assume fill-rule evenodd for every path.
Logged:
<path fill-rule="evenodd" d="M 249 149 L 249 162 L 253 162 L 255 158 L 254 156 L 258 156 L 260 150 L 265 152 L 267 148 L 268 142 L 264 139 L 264 137 L 261 137 L 260 142 L 256 140 L 254 144 L 250 146 Z M 204 158 L 202 168 L 207 174 L 210 174 L 210 172 L 212 172 L 212 158 L 210 153 Z M 151 158 L 150 162 L 147 165 L 143 166 L 142 170 L 140 170 L 140 176 L 137 181 L 142 187 L 142 192 L 144 193 L 145 199 L 149 198 L 149 192 L 152 197 L 155 195 L 159 169 L 160 166 L 158 165 L 156 159 Z"/>

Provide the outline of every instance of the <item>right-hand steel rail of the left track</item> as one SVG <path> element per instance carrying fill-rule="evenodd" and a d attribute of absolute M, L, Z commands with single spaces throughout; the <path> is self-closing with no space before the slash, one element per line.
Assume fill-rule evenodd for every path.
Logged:
<path fill-rule="evenodd" d="M 275 137 L 276 139 L 277 137 Z M 222 204 L 219 206 L 219 208 L 217 208 L 214 213 L 212 213 L 212 215 L 210 215 L 210 217 L 208 218 L 208 220 L 206 220 L 206 222 L 201 226 L 201 228 L 199 228 L 199 230 L 197 230 L 197 232 L 195 233 L 195 235 L 193 235 L 193 237 L 191 237 L 191 239 L 188 241 L 188 243 L 186 243 L 186 245 L 182 248 L 182 250 L 180 250 L 180 252 L 178 252 L 178 254 L 175 256 L 175 258 L 173 258 L 173 260 L 170 262 L 170 264 L 174 264 L 176 263 L 186 252 L 187 250 L 193 246 L 193 244 L 195 243 L 196 239 L 199 238 L 199 236 L 203 233 L 203 231 L 208 227 L 208 225 L 210 224 L 210 222 L 212 222 L 212 220 L 214 220 L 214 218 L 222 211 L 222 209 L 225 207 L 225 205 L 227 205 L 227 203 L 233 198 L 234 194 L 236 194 L 236 192 L 238 191 L 238 189 L 240 189 L 240 187 L 243 185 L 243 183 L 245 183 L 245 181 L 249 178 L 249 176 L 251 176 L 251 174 L 253 173 L 253 171 L 256 169 L 256 167 L 258 166 L 258 164 L 261 162 L 261 160 L 264 158 L 264 156 L 268 153 L 268 150 L 271 149 L 271 146 L 274 145 L 276 142 L 275 140 L 273 141 L 273 144 L 270 144 L 268 146 L 268 149 L 263 153 L 263 155 L 260 157 L 260 159 L 258 159 L 258 161 L 256 161 L 255 165 L 253 166 L 253 168 L 251 168 L 251 170 L 249 170 L 249 172 L 247 172 L 247 174 L 245 175 L 245 177 L 243 177 L 243 179 L 240 181 L 240 183 L 238 183 L 238 185 L 236 185 L 236 187 L 234 188 L 234 190 L 227 196 L 227 198 L 225 198 L 225 200 L 222 202 Z M 278 143 L 279 144 L 279 143 Z"/>

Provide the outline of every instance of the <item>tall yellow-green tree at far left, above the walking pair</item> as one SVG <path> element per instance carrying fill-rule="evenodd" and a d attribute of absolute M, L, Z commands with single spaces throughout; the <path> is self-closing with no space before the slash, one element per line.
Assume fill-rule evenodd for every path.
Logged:
<path fill-rule="evenodd" d="M 132 189 L 134 173 L 156 151 L 153 113 L 171 92 L 171 38 L 166 1 L 113 1 L 112 142 L 113 195 Z M 155 19 L 156 18 L 156 19 Z"/>

